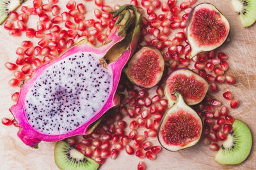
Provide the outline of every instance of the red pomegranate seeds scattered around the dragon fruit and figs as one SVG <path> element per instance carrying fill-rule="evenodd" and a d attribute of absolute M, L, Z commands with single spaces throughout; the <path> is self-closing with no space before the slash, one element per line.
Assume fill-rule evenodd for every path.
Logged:
<path fill-rule="evenodd" d="M 86 1 L 90 0 L 79 4 L 70 0 L 66 8 L 61 9 L 56 4 L 58 0 L 48 0 L 45 4 L 41 0 L 34 0 L 31 6 L 22 6 L 20 13 L 10 13 L 4 29 L 11 36 L 26 34 L 27 37 L 17 47 L 15 62 L 5 64 L 7 69 L 13 71 L 14 78 L 9 81 L 11 86 L 19 86 L 22 80 L 28 80 L 36 67 L 58 57 L 81 36 L 86 36 L 93 45 L 99 45 L 108 38 L 116 20 L 112 19 L 109 11 L 117 10 L 120 6 L 109 6 L 104 0 L 94 0 L 95 18 L 86 18 Z M 163 80 L 177 67 L 189 67 L 209 82 L 209 93 L 195 108 L 204 123 L 202 141 L 216 151 L 219 149 L 217 142 L 224 141 L 232 129 L 234 118 L 229 115 L 228 107 L 223 106 L 220 99 L 214 99 L 212 94 L 219 91 L 219 83 L 232 85 L 236 80 L 234 76 L 225 74 L 228 57 L 223 52 L 213 50 L 189 59 L 191 47 L 186 38 L 186 22 L 191 5 L 195 2 L 131 0 L 130 4 L 137 6 L 143 13 L 139 47 L 148 45 L 163 53 L 166 66 Z M 160 11 L 158 15 L 156 10 Z M 36 29 L 27 26 L 29 15 L 38 17 Z M 32 43 L 32 38 L 37 39 L 37 44 Z M 156 159 L 161 146 L 153 146 L 150 140 L 156 138 L 160 120 L 167 109 L 163 81 L 154 89 L 140 89 L 134 88 L 123 75 L 117 93 L 121 97 L 121 104 L 107 113 L 108 117 L 102 121 L 104 123 L 90 135 L 68 138 L 68 143 L 100 164 L 108 157 L 116 159 L 121 150 L 140 159 Z M 17 101 L 18 97 L 19 92 L 15 92 L 12 100 Z M 239 101 L 234 99 L 231 92 L 223 93 L 223 97 L 230 101 L 230 108 L 239 106 Z M 2 123 L 19 127 L 14 120 L 8 118 L 3 118 Z M 143 132 L 139 132 L 141 129 Z M 139 162 L 138 169 L 145 168 L 145 163 Z"/>

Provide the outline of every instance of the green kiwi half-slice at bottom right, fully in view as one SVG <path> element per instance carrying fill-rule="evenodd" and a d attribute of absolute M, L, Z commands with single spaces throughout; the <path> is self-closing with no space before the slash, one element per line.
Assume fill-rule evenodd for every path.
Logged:
<path fill-rule="evenodd" d="M 215 157 L 220 164 L 239 164 L 248 157 L 252 148 L 252 134 L 248 126 L 240 120 L 235 120 L 232 126 Z"/>

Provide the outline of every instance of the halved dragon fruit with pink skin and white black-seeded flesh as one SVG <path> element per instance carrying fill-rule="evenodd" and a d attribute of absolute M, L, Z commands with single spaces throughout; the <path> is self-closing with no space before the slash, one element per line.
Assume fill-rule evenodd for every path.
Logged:
<path fill-rule="evenodd" d="M 118 18 L 103 46 L 81 38 L 60 57 L 37 67 L 21 87 L 10 111 L 26 145 L 86 134 L 115 106 L 122 68 L 138 46 L 141 13 L 132 5 L 111 13 Z"/>

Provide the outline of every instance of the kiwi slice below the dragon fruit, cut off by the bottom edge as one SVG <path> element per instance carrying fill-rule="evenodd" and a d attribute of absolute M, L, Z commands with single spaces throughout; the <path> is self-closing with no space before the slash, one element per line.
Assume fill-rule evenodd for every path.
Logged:
<path fill-rule="evenodd" d="M 54 148 L 54 159 L 61 170 L 96 170 L 99 164 L 79 152 L 65 141 L 58 141 Z"/>

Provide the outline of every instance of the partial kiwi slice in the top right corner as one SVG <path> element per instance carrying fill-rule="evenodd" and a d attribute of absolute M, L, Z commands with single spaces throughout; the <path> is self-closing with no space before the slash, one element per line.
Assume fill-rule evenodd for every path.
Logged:
<path fill-rule="evenodd" d="M 231 0 L 243 27 L 249 27 L 256 20 L 255 0 Z"/>

